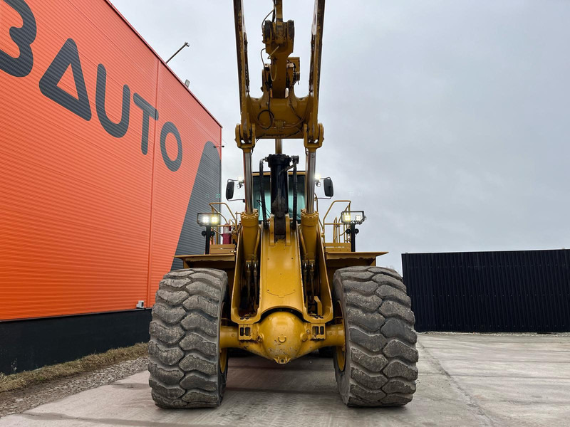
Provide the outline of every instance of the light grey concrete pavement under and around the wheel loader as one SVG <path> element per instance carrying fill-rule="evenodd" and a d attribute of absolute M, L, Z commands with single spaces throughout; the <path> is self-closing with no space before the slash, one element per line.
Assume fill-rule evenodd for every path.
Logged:
<path fill-rule="evenodd" d="M 570 334 L 420 334 L 418 391 L 402 408 L 347 408 L 331 359 L 231 359 L 222 406 L 167 411 L 148 374 L 0 419 L 6 426 L 569 426 Z"/>

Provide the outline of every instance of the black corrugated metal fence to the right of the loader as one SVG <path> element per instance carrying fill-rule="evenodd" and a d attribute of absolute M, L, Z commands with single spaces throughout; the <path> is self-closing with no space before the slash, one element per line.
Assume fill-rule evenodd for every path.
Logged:
<path fill-rule="evenodd" d="M 403 253 L 418 331 L 570 332 L 570 250 Z"/>

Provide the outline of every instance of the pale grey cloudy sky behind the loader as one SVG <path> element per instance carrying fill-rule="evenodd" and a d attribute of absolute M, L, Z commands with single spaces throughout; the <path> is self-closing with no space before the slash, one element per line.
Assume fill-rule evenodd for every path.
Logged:
<path fill-rule="evenodd" d="M 241 175 L 232 2 L 113 4 L 162 58 L 190 42 L 169 65 L 224 127 L 223 180 Z M 271 1 L 244 7 L 258 96 Z M 312 14 L 312 1 L 284 1 L 298 95 Z M 401 273 L 405 252 L 570 247 L 569 22 L 564 0 L 328 1 L 317 169 L 366 211 L 358 250 L 390 251 L 378 263 Z M 254 164 L 272 148 L 260 141 Z"/>

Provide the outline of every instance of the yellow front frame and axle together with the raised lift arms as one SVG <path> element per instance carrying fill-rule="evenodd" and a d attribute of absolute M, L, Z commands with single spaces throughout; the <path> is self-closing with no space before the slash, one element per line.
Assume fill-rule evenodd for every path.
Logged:
<path fill-rule="evenodd" d="M 234 0 L 234 19 L 239 75 L 241 121 L 235 130 L 237 146 L 244 151 L 244 169 L 251 174 L 251 152 L 257 139 L 276 138 L 281 152 L 281 139 L 304 139 L 307 164 L 314 167 L 314 152 L 324 139 L 323 125 L 318 123 L 318 97 L 321 73 L 324 0 L 315 1 L 311 31 L 311 64 L 309 93 L 297 97 L 295 83 L 299 80 L 300 61 L 289 55 L 294 47 L 293 21 L 283 20 L 282 1 L 274 1 L 274 18 L 262 24 L 263 41 L 269 63 L 262 70 L 262 95 L 249 95 L 247 36 L 244 28 L 242 0 Z M 311 169 L 311 174 L 314 171 Z M 251 179 L 251 176 L 247 176 Z M 309 180 L 312 185 L 312 177 Z M 309 184 L 306 184 L 309 185 Z M 249 184 L 251 186 L 251 184 Z M 247 186 L 246 190 L 252 189 Z M 312 191 L 312 188 L 311 188 Z M 311 192 L 312 194 L 312 192 Z M 312 199 L 312 196 L 311 196 Z M 252 211 L 248 199 L 246 212 L 237 227 L 234 253 L 234 276 L 230 303 L 230 319 L 236 325 L 222 325 L 219 347 L 237 347 L 259 354 L 278 363 L 321 347 L 345 345 L 344 325 L 333 320 L 333 300 L 328 282 L 328 264 L 323 227 L 318 209 L 312 211 L 313 200 L 307 201 L 309 212 L 301 210 L 301 224 L 291 228 L 286 218 L 286 238 L 275 239 L 274 218 L 269 228 L 259 226 L 258 212 Z M 358 262 L 361 262 L 359 260 Z M 364 260 L 368 262 L 368 260 Z M 314 274 L 317 312 L 309 312 L 301 268 L 306 263 Z M 240 313 L 242 270 L 259 268 L 259 303 L 254 312 Z"/>

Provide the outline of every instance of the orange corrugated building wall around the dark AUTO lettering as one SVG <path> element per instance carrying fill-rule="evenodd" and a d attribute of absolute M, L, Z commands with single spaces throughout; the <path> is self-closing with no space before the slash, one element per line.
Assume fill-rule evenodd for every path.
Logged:
<path fill-rule="evenodd" d="M 14 59 L 26 51 L 19 37 L 33 35 L 26 5 L 36 23 L 33 65 L 17 76 L 26 71 Z M 46 78 L 50 65 L 72 44 L 88 99 L 79 113 L 46 95 L 57 92 Z M 111 122 L 120 122 L 129 88 L 120 137 L 98 117 L 99 64 Z M 68 66 L 57 87 L 85 100 L 75 71 Z M 219 123 L 105 0 L 0 0 L 0 90 L 0 320 L 151 306 L 172 265 L 204 144 L 221 145 Z M 146 154 L 135 93 L 158 112 L 148 119 Z M 170 169 L 160 147 L 167 122 L 182 144 L 176 168 L 177 140 L 167 135 Z"/>

